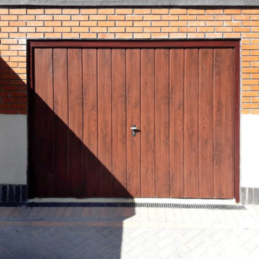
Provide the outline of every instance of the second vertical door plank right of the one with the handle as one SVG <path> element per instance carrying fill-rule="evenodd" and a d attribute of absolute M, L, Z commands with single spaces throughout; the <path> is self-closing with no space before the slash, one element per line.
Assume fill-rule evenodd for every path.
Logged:
<path fill-rule="evenodd" d="M 169 197 L 169 49 L 155 49 L 155 182 Z"/>

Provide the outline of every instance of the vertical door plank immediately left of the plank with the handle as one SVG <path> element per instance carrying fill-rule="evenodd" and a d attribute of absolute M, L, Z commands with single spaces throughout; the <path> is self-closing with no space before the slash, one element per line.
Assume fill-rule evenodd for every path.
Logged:
<path fill-rule="evenodd" d="M 112 174 L 113 193 L 126 193 L 125 49 L 112 49 Z"/>

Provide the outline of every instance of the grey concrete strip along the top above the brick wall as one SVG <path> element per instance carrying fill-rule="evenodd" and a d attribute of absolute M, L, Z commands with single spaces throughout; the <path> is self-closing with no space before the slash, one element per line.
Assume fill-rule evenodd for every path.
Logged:
<path fill-rule="evenodd" d="M 259 6 L 258 0 L 1 0 L 0 6 Z"/>

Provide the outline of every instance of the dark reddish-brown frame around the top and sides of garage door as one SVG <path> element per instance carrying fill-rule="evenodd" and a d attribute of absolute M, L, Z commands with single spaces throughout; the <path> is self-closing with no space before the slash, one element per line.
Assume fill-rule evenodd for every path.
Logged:
<path fill-rule="evenodd" d="M 28 190 L 31 198 L 33 148 L 33 49 L 37 47 L 74 48 L 198 48 L 234 49 L 234 198 L 240 201 L 240 40 L 28 40 Z"/>

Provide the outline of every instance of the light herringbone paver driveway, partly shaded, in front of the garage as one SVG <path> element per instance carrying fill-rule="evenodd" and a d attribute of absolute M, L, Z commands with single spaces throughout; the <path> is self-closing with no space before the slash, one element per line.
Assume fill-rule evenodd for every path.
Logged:
<path fill-rule="evenodd" d="M 0 258 L 259 258 L 247 210 L 0 207 Z"/>

